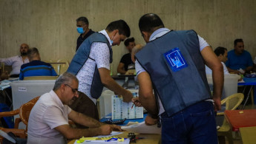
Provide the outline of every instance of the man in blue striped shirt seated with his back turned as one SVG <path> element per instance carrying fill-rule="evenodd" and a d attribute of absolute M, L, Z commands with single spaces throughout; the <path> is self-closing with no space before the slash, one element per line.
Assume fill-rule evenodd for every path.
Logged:
<path fill-rule="evenodd" d="M 19 80 L 31 76 L 57 76 L 53 66 L 41 61 L 39 51 L 36 47 L 28 50 L 27 57 L 30 62 L 22 65 Z"/>

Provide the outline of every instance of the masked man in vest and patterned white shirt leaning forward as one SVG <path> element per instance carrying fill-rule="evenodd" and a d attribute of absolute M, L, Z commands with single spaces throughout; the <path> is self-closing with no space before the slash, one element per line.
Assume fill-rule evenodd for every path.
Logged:
<path fill-rule="evenodd" d="M 131 101 L 131 92 L 119 86 L 110 75 L 111 47 L 119 45 L 130 33 L 125 21 L 113 21 L 105 30 L 94 32 L 81 44 L 68 67 L 68 72 L 78 78 L 80 91 L 79 98 L 70 105 L 71 109 L 99 119 L 96 100 L 102 94 L 103 86 L 122 95 L 125 102 Z"/>

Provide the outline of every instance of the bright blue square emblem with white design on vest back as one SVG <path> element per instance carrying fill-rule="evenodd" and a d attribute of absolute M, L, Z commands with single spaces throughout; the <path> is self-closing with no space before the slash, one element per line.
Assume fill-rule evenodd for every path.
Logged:
<path fill-rule="evenodd" d="M 183 54 L 180 52 L 178 47 L 165 52 L 163 55 L 168 62 L 168 66 L 171 67 L 173 72 L 177 72 L 180 69 L 184 69 L 188 66 L 185 58 L 183 57 Z"/>

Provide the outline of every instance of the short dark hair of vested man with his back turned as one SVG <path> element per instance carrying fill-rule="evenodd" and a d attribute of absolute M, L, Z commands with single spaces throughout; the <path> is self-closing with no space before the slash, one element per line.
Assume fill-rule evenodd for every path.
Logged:
<path fill-rule="evenodd" d="M 163 21 L 154 13 L 147 13 L 140 18 L 139 21 L 140 32 L 154 32 L 156 27 L 165 27 Z"/>

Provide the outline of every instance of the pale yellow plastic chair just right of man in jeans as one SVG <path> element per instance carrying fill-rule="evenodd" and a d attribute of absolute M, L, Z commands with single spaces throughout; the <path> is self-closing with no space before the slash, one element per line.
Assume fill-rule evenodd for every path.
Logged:
<path fill-rule="evenodd" d="M 225 99 L 221 100 L 221 105 L 226 103 L 226 110 L 234 110 L 237 109 L 238 106 L 240 106 L 240 103 L 243 101 L 243 94 L 237 93 L 234 95 L 230 95 L 229 97 L 226 97 Z M 224 112 L 218 112 L 217 115 L 224 115 Z M 226 143 L 225 137 L 226 136 L 229 140 L 229 144 L 233 144 L 232 140 L 232 128 L 230 128 L 229 123 L 226 121 L 226 119 L 223 120 L 223 125 L 220 126 L 220 128 L 217 130 L 217 135 L 219 138 L 219 143 Z"/>

